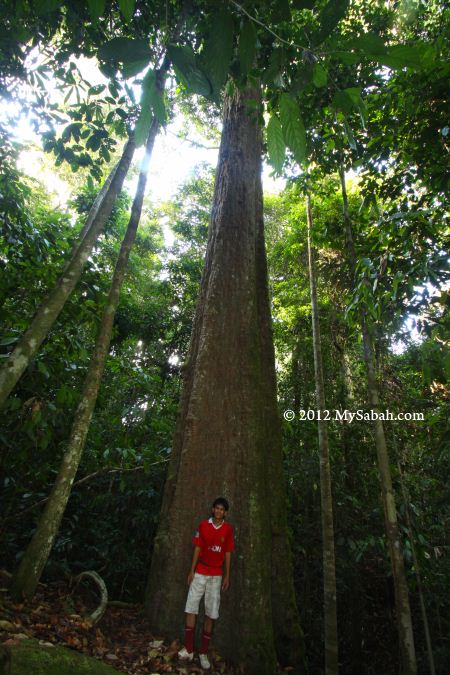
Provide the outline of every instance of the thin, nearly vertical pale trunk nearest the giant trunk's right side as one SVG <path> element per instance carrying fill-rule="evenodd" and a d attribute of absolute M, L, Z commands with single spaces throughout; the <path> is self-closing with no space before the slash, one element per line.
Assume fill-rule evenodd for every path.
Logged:
<path fill-rule="evenodd" d="M 315 252 L 311 243 L 311 198 L 306 195 L 306 220 L 308 223 L 308 263 L 311 290 L 311 319 L 313 333 L 314 372 L 316 399 L 320 416 L 317 421 L 320 453 L 320 496 L 322 506 L 323 597 L 325 620 L 325 673 L 339 672 L 338 634 L 336 609 L 336 562 L 334 555 L 333 496 L 331 493 L 330 455 L 325 416 L 325 386 L 323 382 L 322 347 L 320 344 L 319 307 L 317 302 Z"/>

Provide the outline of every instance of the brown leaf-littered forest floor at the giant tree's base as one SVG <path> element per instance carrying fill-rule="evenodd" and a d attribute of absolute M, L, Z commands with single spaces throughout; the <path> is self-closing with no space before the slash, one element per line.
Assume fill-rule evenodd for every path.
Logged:
<path fill-rule="evenodd" d="M 43 645 L 74 649 L 132 675 L 240 672 L 213 650 L 209 671 L 202 670 L 197 657 L 187 665 L 180 662 L 180 643 L 169 643 L 164 636 L 155 635 L 140 605 L 108 605 L 102 619 L 93 626 L 83 618 L 92 611 L 86 604 L 86 596 L 73 593 L 64 582 L 39 584 L 33 600 L 26 604 L 13 602 L 7 590 L 0 588 L 0 643 L 17 645 L 34 638 Z"/>

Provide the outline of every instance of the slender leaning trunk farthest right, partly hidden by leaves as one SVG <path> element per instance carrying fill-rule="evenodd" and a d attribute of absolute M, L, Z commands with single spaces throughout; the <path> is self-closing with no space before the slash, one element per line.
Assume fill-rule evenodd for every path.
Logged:
<path fill-rule="evenodd" d="M 347 189 L 345 184 L 345 171 L 342 165 L 339 168 L 339 176 L 342 189 L 346 247 L 351 266 L 351 271 L 352 274 L 354 275 L 356 270 L 357 259 L 348 209 Z M 378 469 L 380 472 L 386 537 L 388 540 L 389 554 L 392 565 L 392 577 L 394 580 L 395 607 L 397 614 L 397 627 L 399 631 L 402 672 L 404 673 L 404 675 L 415 675 L 417 673 L 417 665 L 416 665 L 416 653 L 414 648 L 414 633 L 411 619 L 411 609 L 409 605 L 408 585 L 406 582 L 403 551 L 397 521 L 397 510 L 395 506 L 394 489 L 392 486 L 391 469 L 389 464 L 389 453 L 386 444 L 386 436 L 384 433 L 384 425 L 382 420 L 379 419 L 380 400 L 378 393 L 378 383 L 375 374 L 373 344 L 367 321 L 367 313 L 365 312 L 365 310 L 362 310 L 361 312 L 361 329 L 363 339 L 364 361 L 366 364 L 366 372 L 367 372 L 369 407 L 376 413 L 374 415 L 376 419 L 374 419 L 373 422 L 373 430 L 375 434 L 375 445 L 377 449 Z"/>

